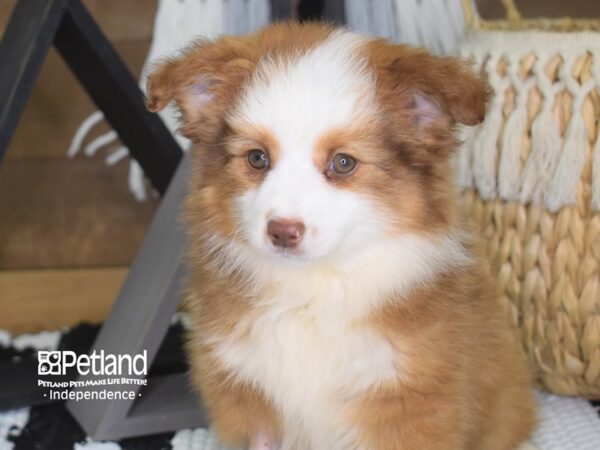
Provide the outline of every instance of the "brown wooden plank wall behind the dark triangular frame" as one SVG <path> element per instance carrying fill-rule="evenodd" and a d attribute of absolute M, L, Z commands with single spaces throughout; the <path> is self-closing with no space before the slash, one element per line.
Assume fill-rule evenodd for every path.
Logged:
<path fill-rule="evenodd" d="M 15 3 L 0 0 L 0 34 Z M 137 76 L 156 0 L 84 3 Z M 101 321 L 143 239 L 158 200 L 133 199 L 126 162 L 107 167 L 106 151 L 66 157 L 73 133 L 94 110 L 52 50 L 0 164 L 0 329 Z"/>

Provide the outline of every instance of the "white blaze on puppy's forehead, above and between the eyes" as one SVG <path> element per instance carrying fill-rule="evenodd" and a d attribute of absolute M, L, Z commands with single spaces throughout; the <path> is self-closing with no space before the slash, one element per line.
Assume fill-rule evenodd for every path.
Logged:
<path fill-rule="evenodd" d="M 324 131 L 376 113 L 367 41 L 340 30 L 304 54 L 263 60 L 230 120 L 266 127 L 285 152 L 311 151 Z"/>

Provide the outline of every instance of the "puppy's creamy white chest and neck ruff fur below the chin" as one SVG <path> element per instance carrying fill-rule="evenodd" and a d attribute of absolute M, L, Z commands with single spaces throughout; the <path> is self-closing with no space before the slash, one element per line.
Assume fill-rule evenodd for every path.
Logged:
<path fill-rule="evenodd" d="M 302 270 L 262 273 L 259 266 L 254 276 L 263 289 L 252 300 L 236 295 L 240 283 L 214 275 L 228 298 L 245 302 L 245 312 L 220 328 L 227 331 L 198 337 L 234 379 L 259 388 L 275 406 L 284 427 L 282 450 L 354 448 L 360 431 L 346 418 L 348 410 L 370 388 L 406 380 L 411 364 L 404 344 L 394 338 L 392 345 L 369 318 L 390 301 L 408 301 L 413 288 L 433 282 L 440 271 L 470 261 L 455 235 L 437 241 L 401 236 L 354 256 L 346 264 Z M 233 308 L 206 306 L 200 316 L 231 324 Z"/>

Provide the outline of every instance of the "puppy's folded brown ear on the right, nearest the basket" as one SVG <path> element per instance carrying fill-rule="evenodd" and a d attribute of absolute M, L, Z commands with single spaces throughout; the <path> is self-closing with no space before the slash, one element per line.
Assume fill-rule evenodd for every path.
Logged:
<path fill-rule="evenodd" d="M 388 76 L 394 80 L 394 90 L 409 97 L 406 104 L 420 126 L 442 117 L 452 124 L 476 125 L 483 121 L 489 91 L 469 64 L 424 50 L 395 47 Z"/>

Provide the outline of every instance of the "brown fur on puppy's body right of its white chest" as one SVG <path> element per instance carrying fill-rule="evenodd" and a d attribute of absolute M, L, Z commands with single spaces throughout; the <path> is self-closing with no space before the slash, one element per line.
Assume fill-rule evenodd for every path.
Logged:
<path fill-rule="evenodd" d="M 529 371 L 489 279 L 476 260 L 365 324 L 398 348 L 405 375 L 350 408 L 363 429 L 360 448 L 514 450 L 527 439 L 535 424 Z"/>

